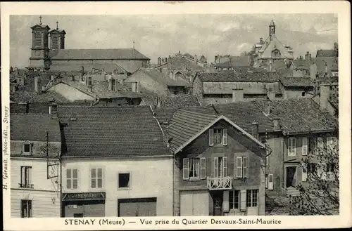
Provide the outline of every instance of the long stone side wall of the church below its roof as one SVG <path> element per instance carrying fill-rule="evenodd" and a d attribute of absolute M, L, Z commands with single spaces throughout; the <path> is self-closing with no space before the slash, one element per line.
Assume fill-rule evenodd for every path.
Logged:
<path fill-rule="evenodd" d="M 125 68 L 128 72 L 135 72 L 140 67 L 146 67 L 148 60 L 52 60 L 51 70 L 61 71 L 80 71 L 82 66 L 84 70 L 90 70 L 92 67 L 96 68 L 96 65 L 109 65 L 118 63 Z M 94 65 L 89 67 L 89 65 Z"/>

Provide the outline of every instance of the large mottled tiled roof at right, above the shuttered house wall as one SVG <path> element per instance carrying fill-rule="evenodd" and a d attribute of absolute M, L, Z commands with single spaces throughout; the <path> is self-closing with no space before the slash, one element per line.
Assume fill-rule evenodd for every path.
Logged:
<path fill-rule="evenodd" d="M 265 112 L 265 101 L 253 101 Z M 338 121 L 311 98 L 271 100 L 270 119 L 278 117 L 282 130 L 289 133 L 338 130 Z"/>

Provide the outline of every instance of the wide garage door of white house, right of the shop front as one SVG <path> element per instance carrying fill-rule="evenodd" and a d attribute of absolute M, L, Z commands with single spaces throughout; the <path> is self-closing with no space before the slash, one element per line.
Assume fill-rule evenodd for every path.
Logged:
<path fill-rule="evenodd" d="M 156 197 L 118 199 L 118 216 L 156 216 Z"/>

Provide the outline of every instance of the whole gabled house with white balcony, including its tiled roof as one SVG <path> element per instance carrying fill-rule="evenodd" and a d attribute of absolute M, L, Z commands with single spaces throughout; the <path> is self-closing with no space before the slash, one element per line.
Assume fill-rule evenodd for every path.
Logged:
<path fill-rule="evenodd" d="M 265 146 L 256 138 L 226 117 L 186 110 L 173 114 L 167 133 L 174 216 L 265 214 Z"/>

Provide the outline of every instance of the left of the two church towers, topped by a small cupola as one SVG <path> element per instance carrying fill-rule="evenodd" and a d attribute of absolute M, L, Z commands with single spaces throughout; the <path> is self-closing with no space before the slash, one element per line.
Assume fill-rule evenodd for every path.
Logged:
<path fill-rule="evenodd" d="M 49 60 L 49 29 L 48 25 L 42 25 L 42 16 L 39 24 L 32 29 L 32 55 L 30 57 L 30 69 L 48 70 Z"/>

